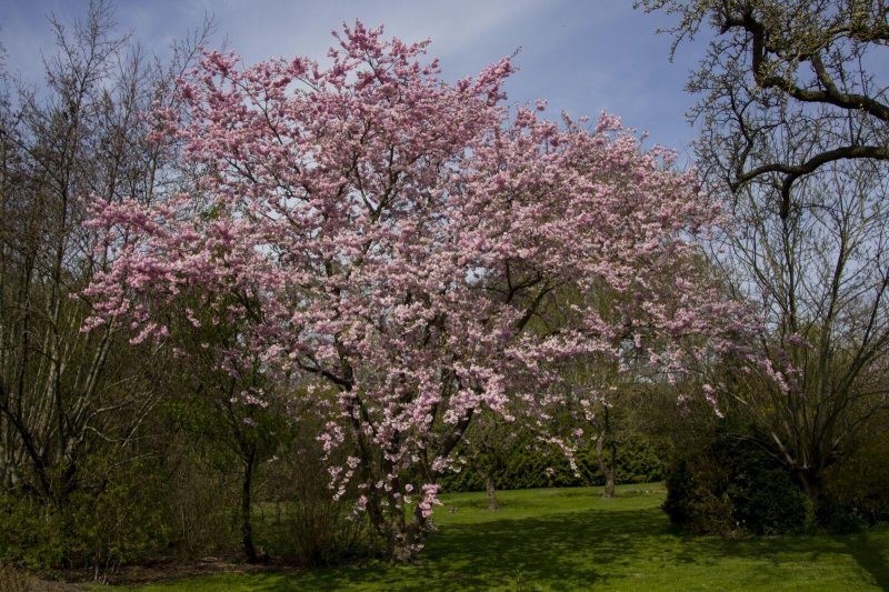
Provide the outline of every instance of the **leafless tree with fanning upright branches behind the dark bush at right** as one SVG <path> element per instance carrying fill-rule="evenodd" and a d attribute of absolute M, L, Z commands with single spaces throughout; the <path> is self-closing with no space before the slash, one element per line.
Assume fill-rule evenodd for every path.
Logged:
<path fill-rule="evenodd" d="M 760 349 L 785 377 L 742 374 L 729 390 L 812 498 L 889 409 L 887 182 L 882 163 L 835 163 L 793 188 L 787 217 L 776 189 L 751 187 L 722 237 L 720 262 L 759 304 Z"/>

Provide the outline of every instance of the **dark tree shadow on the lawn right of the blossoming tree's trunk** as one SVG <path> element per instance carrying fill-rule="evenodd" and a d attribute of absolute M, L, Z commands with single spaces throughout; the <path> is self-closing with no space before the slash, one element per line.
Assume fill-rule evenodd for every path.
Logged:
<path fill-rule="evenodd" d="M 659 509 L 566 512 L 540 518 L 449 524 L 412 565 L 317 570 L 292 590 L 578 590 L 601 585 L 638 561 L 635 541 L 669 530 Z M 577 553 L 579 546 L 583 553 Z M 279 591 L 280 582 L 257 590 Z"/>

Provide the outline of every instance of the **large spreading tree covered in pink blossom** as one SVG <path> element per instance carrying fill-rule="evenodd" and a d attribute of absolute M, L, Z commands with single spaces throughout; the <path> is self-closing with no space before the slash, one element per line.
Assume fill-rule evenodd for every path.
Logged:
<path fill-rule="evenodd" d="M 546 427 L 562 361 L 650 352 L 672 375 L 730 349 L 746 317 L 699 264 L 719 208 L 668 152 L 615 117 L 588 129 L 510 110 L 509 59 L 448 84 L 427 43 L 360 23 L 339 41 L 327 68 L 207 53 L 179 84 L 184 113 L 157 121 L 200 191 L 99 201 L 92 224 L 117 252 L 87 293 L 93 324 L 126 317 L 134 342 L 168 339 L 163 307 L 193 290 L 212 322 L 247 319 L 229 367 L 259 354 L 329 405 L 326 448 L 354 451 L 333 488 L 357 483 L 403 555 L 479 410 Z M 567 289 L 623 297 L 548 305 Z"/>

